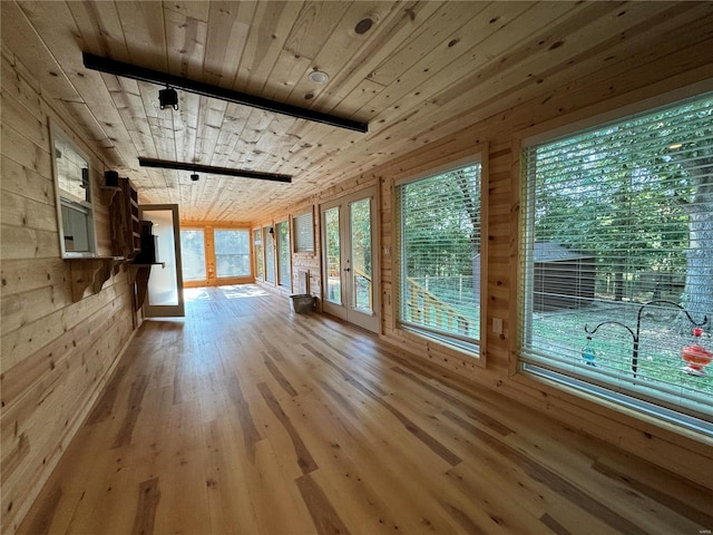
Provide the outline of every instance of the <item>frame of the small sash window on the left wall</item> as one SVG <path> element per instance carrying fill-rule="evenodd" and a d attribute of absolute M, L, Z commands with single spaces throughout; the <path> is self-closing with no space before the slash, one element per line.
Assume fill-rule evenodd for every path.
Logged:
<path fill-rule="evenodd" d="M 86 185 L 87 194 L 86 200 L 77 197 L 74 193 L 64 189 L 60 186 L 59 178 L 59 165 L 58 154 L 62 153 L 59 149 L 59 145 L 68 147 L 76 156 L 81 158 L 87 164 L 86 177 L 82 176 L 81 182 Z M 51 165 L 52 165 L 52 183 L 55 187 L 55 204 L 57 208 L 57 231 L 59 240 L 60 256 L 62 259 L 82 259 L 95 257 L 98 252 L 97 244 L 97 228 L 96 228 L 96 215 L 95 215 L 95 191 L 94 181 L 91 178 L 91 159 L 87 156 L 87 153 L 81 150 L 77 144 L 60 128 L 57 124 L 50 124 L 50 146 L 51 146 Z M 67 148 L 66 148 L 67 150 Z M 82 168 L 84 169 L 84 168 Z M 86 240 L 87 250 L 68 250 L 66 243 L 66 232 L 71 226 L 70 218 L 65 217 L 65 211 L 67 215 L 81 213 L 84 214 L 84 225 L 86 226 Z"/>

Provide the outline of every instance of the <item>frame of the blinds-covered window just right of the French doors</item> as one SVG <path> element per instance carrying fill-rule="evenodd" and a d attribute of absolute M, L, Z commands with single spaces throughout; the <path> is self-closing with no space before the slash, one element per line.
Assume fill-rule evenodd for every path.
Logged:
<path fill-rule="evenodd" d="M 418 343 L 426 343 L 430 347 L 438 347 L 446 354 L 453 354 L 460 358 L 466 358 L 468 363 L 475 363 L 476 366 L 485 368 L 486 354 L 488 346 L 488 302 L 484 299 L 487 295 L 487 281 L 488 281 L 488 188 L 489 188 L 489 160 L 488 160 L 488 144 L 479 143 L 476 145 L 475 150 L 467 156 L 459 159 L 445 163 L 440 166 L 428 167 L 419 173 L 404 174 L 403 176 L 394 178 L 392 187 L 392 205 L 391 210 L 394 214 L 393 225 L 394 242 L 393 242 L 393 256 L 392 256 L 392 272 L 394 276 L 394 320 L 393 327 L 400 331 L 401 335 L 406 339 L 413 340 Z M 399 202 L 399 188 L 412 184 L 419 181 L 434 177 L 437 175 L 457 171 L 470 165 L 480 164 L 480 319 L 478 324 L 478 338 L 473 340 L 460 340 L 458 335 L 450 335 L 440 331 L 431 331 L 427 328 L 418 325 L 411 325 L 402 322 L 402 243 L 401 243 L 401 207 Z"/>

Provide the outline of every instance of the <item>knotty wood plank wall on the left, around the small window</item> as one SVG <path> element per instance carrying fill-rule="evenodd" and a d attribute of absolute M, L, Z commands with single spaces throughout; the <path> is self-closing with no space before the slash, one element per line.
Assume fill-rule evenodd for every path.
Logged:
<path fill-rule="evenodd" d="M 49 477 L 133 334 L 125 270 L 72 302 L 60 259 L 49 125 L 90 155 L 100 254 L 110 254 L 105 171 L 80 129 L 43 98 L 32 75 L 2 48 L 2 533 L 13 533 Z"/>

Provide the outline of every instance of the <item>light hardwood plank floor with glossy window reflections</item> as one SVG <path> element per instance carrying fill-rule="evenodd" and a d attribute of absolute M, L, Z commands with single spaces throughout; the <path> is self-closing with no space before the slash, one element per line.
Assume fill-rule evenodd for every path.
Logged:
<path fill-rule="evenodd" d="M 706 489 L 255 285 L 147 321 L 19 533 L 691 534 Z M 709 532 L 710 533 L 710 532 Z"/>

